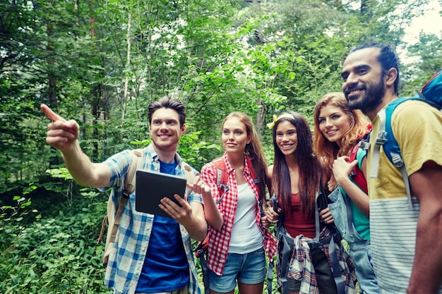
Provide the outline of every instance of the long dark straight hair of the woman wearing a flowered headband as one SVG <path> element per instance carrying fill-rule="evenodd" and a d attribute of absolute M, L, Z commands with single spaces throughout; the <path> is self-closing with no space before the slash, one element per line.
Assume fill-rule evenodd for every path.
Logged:
<path fill-rule="evenodd" d="M 273 163 L 272 187 L 281 200 L 280 206 L 284 214 L 291 212 L 290 196 L 292 185 L 290 181 L 289 167 L 285 161 L 280 147 L 276 142 L 277 125 L 282 121 L 288 121 L 297 130 L 298 144 L 294 151 L 294 158 L 299 166 L 299 197 L 301 198 L 301 212 L 311 214 L 314 212 L 316 192 L 321 183 L 321 166 L 318 159 L 313 155 L 313 142 L 309 123 L 304 116 L 294 111 L 288 111 L 277 119 L 273 126 L 273 148 L 275 150 L 275 161 Z"/>

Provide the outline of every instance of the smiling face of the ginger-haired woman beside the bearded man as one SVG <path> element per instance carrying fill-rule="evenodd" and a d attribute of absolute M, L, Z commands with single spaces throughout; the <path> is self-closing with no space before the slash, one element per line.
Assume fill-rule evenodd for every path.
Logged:
<path fill-rule="evenodd" d="M 340 145 L 342 137 L 352 125 L 350 117 L 340 107 L 328 104 L 321 107 L 318 116 L 319 130 L 330 142 Z"/>

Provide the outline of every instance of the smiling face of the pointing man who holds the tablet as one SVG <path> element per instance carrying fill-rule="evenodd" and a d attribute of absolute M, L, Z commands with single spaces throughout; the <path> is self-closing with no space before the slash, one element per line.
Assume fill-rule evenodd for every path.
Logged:
<path fill-rule="evenodd" d="M 150 137 L 155 147 L 164 152 L 177 150 L 179 137 L 185 130 L 186 125 L 179 125 L 179 115 L 174 109 L 160 108 L 152 114 Z"/>

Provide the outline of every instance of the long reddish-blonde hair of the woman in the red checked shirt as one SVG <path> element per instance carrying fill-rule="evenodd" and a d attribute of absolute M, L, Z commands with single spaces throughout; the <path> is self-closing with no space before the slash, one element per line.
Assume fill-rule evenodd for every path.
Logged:
<path fill-rule="evenodd" d="M 258 178 L 259 183 L 259 199 L 265 200 L 266 187 L 267 187 L 267 164 L 265 163 L 265 157 L 263 153 L 263 147 L 261 146 L 261 141 L 259 140 L 258 133 L 256 133 L 255 127 L 253 126 L 253 122 L 251 118 L 246 114 L 235 111 L 226 116 L 222 125 L 229 118 L 238 118 L 241 123 L 244 123 L 246 126 L 247 135 L 251 136 L 251 141 L 246 145 L 244 149 L 244 154 L 250 157 L 252 162 L 252 169 L 255 171 L 256 178 Z"/>

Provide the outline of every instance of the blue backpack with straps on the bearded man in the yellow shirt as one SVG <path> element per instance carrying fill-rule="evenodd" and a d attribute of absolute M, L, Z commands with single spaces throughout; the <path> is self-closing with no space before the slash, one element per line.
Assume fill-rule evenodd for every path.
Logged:
<path fill-rule="evenodd" d="M 370 178 L 378 177 L 378 167 L 379 167 L 379 150 L 381 146 L 383 147 L 383 152 L 385 152 L 388 159 L 400 169 L 402 178 L 405 182 L 405 190 L 407 192 L 408 203 L 411 207 L 411 192 L 410 183 L 408 182 L 407 171 L 405 170 L 405 164 L 402 160 L 400 153 L 398 141 L 396 141 L 393 135 L 393 129 L 391 128 L 391 121 L 393 112 L 396 107 L 402 102 L 408 100 L 419 100 L 434 106 L 436 109 L 442 109 L 442 71 L 436 73 L 424 87 L 422 91 L 418 92 L 415 97 L 401 97 L 393 100 L 386 106 L 385 109 L 381 109 L 378 112 L 379 120 L 381 121 L 378 131 L 378 137 L 376 137 L 376 143 L 373 151 L 373 158 L 371 160 L 371 170 Z"/>

